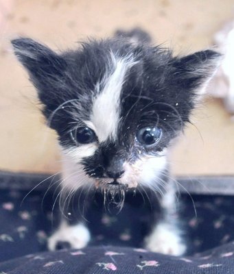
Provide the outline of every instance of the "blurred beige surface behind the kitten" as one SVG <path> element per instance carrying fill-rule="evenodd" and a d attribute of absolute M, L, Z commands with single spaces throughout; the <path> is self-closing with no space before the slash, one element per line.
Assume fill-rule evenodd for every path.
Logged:
<path fill-rule="evenodd" d="M 45 127 L 11 38 L 30 36 L 58 50 L 141 27 L 155 45 L 188 54 L 211 47 L 214 34 L 233 18 L 233 0 L 0 0 L 0 170 L 60 169 L 56 135 Z M 234 123 L 222 101 L 206 97 L 192 121 L 172 151 L 174 173 L 234 174 Z"/>

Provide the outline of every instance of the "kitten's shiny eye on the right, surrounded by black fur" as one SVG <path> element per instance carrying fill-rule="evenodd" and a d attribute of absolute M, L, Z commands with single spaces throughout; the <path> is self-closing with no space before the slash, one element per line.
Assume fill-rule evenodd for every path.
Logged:
<path fill-rule="evenodd" d="M 159 127 L 143 127 L 137 132 L 137 140 L 142 145 L 153 145 L 159 141 L 162 129 Z"/>

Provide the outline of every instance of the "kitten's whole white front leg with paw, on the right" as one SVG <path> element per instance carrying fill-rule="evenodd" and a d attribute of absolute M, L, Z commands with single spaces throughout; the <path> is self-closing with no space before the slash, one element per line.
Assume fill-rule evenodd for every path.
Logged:
<path fill-rule="evenodd" d="M 185 253 L 186 246 L 178 227 L 175 190 L 172 184 L 168 184 L 167 187 L 167 193 L 161 201 L 163 219 L 153 227 L 151 234 L 145 238 L 145 247 L 153 252 L 181 256 Z"/>

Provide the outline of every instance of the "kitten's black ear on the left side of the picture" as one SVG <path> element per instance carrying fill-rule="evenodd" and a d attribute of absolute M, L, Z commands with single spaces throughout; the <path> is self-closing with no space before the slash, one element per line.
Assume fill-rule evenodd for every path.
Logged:
<path fill-rule="evenodd" d="M 66 68 L 65 60 L 56 52 L 30 39 L 18 38 L 11 41 L 14 53 L 30 74 L 36 87 L 56 84 L 56 80 Z"/>

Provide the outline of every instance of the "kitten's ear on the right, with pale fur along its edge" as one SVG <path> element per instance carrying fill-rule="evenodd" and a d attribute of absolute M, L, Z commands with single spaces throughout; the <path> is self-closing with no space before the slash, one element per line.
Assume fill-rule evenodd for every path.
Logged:
<path fill-rule="evenodd" d="M 183 58 L 174 58 L 173 81 L 179 88 L 191 91 L 199 98 L 220 65 L 222 55 L 216 51 L 198 51 Z"/>

